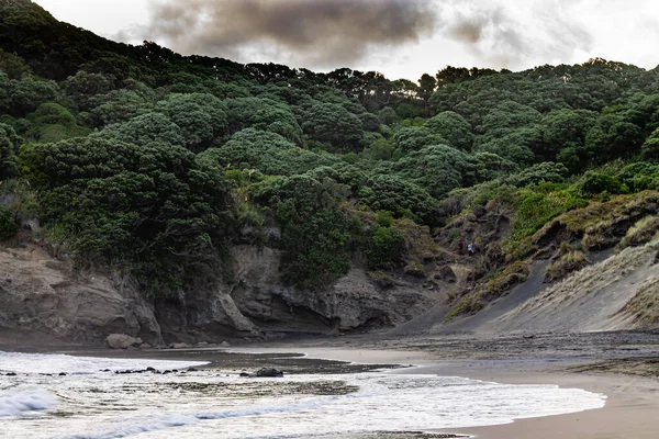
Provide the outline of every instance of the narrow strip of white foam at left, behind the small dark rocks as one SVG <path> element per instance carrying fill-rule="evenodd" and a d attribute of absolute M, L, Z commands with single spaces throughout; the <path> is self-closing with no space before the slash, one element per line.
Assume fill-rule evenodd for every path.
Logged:
<path fill-rule="evenodd" d="M 16 353 L 0 351 L 0 371 L 14 373 L 98 373 L 108 369 L 185 369 L 204 365 L 203 361 L 163 361 L 144 359 L 112 359 L 65 354 Z"/>

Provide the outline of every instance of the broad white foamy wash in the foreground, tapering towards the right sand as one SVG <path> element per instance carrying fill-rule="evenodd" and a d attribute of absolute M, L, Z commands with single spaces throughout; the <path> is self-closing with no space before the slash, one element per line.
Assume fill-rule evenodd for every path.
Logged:
<path fill-rule="evenodd" d="M 317 379 L 317 378 L 316 378 Z M 377 431 L 418 431 L 509 424 L 515 419 L 560 415 L 603 407 L 605 396 L 555 385 L 504 385 L 434 375 L 337 375 L 361 389 L 340 396 L 239 398 L 235 409 L 133 418 L 99 434 L 66 439 L 115 439 L 136 432 L 178 438 L 212 432 L 224 439 L 297 438 Z M 309 382 L 309 376 L 290 381 Z M 174 419 L 174 420 L 172 420 Z M 94 431 L 99 428 L 96 427 Z"/>

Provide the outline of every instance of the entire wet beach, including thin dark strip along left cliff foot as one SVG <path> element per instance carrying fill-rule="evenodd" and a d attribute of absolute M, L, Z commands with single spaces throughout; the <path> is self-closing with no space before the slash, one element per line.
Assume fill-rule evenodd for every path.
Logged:
<path fill-rule="evenodd" d="M 658 334 L 407 338 L 370 335 L 259 342 L 226 349 L 64 351 L 94 357 L 211 361 L 210 368 L 234 372 L 238 368 L 257 370 L 263 365 L 279 367 L 290 373 L 366 372 L 400 364 L 403 368 L 391 373 L 555 384 L 604 394 L 606 405 L 601 409 L 522 419 L 503 426 L 435 431 L 434 437 L 449 434 L 483 439 L 659 438 Z"/>

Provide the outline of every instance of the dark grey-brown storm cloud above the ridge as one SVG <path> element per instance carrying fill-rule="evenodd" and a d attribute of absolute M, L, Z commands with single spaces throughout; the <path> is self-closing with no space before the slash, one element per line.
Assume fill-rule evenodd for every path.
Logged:
<path fill-rule="evenodd" d="M 226 57 L 292 52 L 316 66 L 354 63 L 373 46 L 429 36 L 437 20 L 424 0 L 159 0 L 150 12 L 146 29 L 120 37 Z"/>

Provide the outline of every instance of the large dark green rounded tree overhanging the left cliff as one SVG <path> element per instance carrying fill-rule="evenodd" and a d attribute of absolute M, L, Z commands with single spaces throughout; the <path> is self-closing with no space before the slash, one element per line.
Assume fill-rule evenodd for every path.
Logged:
<path fill-rule="evenodd" d="M 81 260 L 119 264 L 158 294 L 215 263 L 228 188 L 186 148 L 85 137 L 26 148 L 21 162 L 41 218 Z"/>

